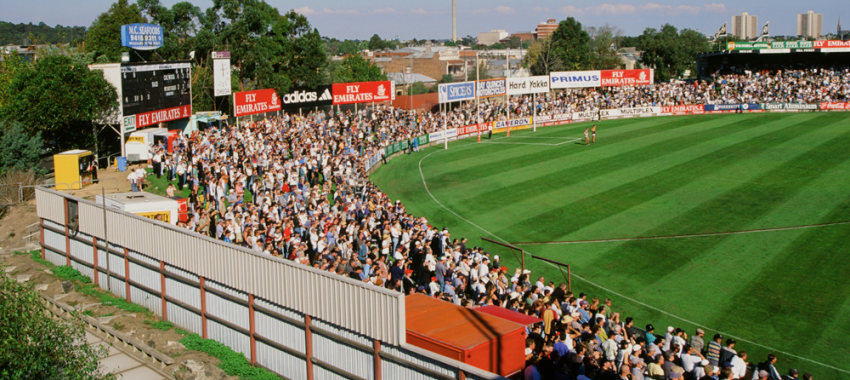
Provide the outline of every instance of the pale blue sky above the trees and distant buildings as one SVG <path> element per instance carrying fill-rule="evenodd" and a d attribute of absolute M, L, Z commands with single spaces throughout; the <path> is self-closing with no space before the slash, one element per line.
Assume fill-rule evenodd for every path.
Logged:
<path fill-rule="evenodd" d="M 161 0 L 171 6 L 177 0 Z M 188 0 L 206 9 L 212 0 Z M 48 25 L 89 26 L 109 9 L 114 0 L 27 0 L 7 1 L 0 20 Z M 338 39 L 451 38 L 451 1 L 389 0 L 266 0 L 281 12 L 294 9 L 307 16 L 324 36 Z M 491 29 L 508 32 L 533 31 L 537 23 L 549 18 L 575 17 L 585 26 L 609 24 L 624 35 L 639 35 L 646 28 L 670 23 L 679 29 L 697 29 L 714 34 L 732 15 L 748 12 L 758 16 L 759 28 L 770 21 L 771 35 L 796 34 L 796 15 L 813 10 L 823 14 L 823 33 L 834 33 L 838 18 L 845 17 L 843 29 L 850 29 L 848 0 L 458 0 L 458 37 L 477 36 Z M 731 29 L 730 29 L 731 31 Z"/>

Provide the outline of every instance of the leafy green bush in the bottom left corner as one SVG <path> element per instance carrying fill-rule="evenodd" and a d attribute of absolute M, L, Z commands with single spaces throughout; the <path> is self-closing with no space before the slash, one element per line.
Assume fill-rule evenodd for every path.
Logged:
<path fill-rule="evenodd" d="M 0 276 L 0 378 L 114 379 L 97 362 L 107 349 L 85 344 L 83 323 L 53 319 L 43 302 L 31 284 Z"/>

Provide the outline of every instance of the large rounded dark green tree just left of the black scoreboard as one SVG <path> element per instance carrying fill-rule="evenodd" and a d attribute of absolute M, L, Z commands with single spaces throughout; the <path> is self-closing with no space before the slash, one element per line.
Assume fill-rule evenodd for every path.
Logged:
<path fill-rule="evenodd" d="M 0 119 L 38 132 L 56 151 L 94 145 L 92 120 L 117 106 L 118 94 L 103 72 L 50 55 L 21 70 L 9 86 L 15 94 L 0 108 Z"/>

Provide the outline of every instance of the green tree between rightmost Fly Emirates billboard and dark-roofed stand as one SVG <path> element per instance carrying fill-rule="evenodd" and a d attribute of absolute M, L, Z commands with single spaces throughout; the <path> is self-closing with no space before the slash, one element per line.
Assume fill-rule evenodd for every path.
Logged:
<path fill-rule="evenodd" d="M 647 28 L 637 46 L 643 53 L 640 62 L 655 69 L 655 80 L 668 81 L 681 76 L 685 70 L 696 73 L 696 57 L 709 50 L 705 36 L 690 29 L 681 33 L 675 26 L 665 24 L 661 30 Z"/>

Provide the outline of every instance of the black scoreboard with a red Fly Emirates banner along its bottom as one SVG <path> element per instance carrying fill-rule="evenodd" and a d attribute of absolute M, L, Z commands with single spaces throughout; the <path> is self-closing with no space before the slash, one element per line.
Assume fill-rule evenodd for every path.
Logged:
<path fill-rule="evenodd" d="M 189 61 L 122 64 L 121 111 L 125 123 L 143 128 L 189 117 L 191 85 Z"/>

